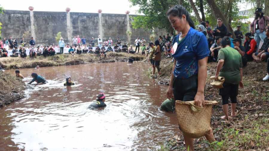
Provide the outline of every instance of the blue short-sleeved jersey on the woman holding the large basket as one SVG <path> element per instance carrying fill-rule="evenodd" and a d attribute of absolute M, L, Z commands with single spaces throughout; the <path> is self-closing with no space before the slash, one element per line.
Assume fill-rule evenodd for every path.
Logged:
<path fill-rule="evenodd" d="M 181 41 L 179 35 L 173 40 L 172 57 L 176 60 L 173 74 L 176 78 L 186 79 L 198 74 L 198 60 L 209 56 L 210 50 L 205 35 L 192 27 Z"/>

